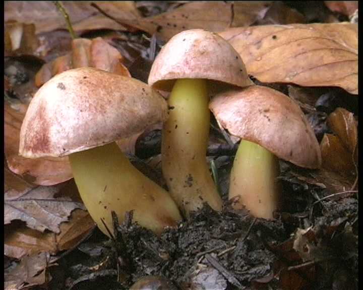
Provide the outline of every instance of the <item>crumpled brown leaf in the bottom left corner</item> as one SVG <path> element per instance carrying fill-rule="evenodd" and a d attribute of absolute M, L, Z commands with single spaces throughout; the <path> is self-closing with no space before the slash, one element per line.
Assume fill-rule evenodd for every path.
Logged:
<path fill-rule="evenodd" d="M 50 275 L 46 271 L 48 262 L 49 254 L 45 252 L 25 257 L 4 277 L 4 289 L 29 289 L 31 286 L 45 284 L 50 280 Z"/>

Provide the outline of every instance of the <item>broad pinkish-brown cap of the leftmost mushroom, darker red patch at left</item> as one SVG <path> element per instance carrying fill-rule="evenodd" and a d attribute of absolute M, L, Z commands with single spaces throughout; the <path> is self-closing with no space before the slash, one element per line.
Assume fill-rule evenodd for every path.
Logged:
<path fill-rule="evenodd" d="M 129 137 L 167 119 L 167 103 L 148 85 L 82 67 L 45 83 L 29 104 L 19 154 L 59 157 Z"/>

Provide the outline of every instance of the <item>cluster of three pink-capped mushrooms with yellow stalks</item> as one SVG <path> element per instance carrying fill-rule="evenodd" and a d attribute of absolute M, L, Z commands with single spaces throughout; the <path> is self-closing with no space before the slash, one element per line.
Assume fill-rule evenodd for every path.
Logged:
<path fill-rule="evenodd" d="M 84 204 L 106 235 L 101 219 L 111 230 L 112 210 L 120 221 L 133 210 L 134 221 L 157 234 L 204 202 L 222 210 L 206 160 L 210 110 L 241 138 L 230 176 L 234 208 L 272 219 L 278 158 L 306 168 L 321 165 L 304 113 L 284 94 L 254 85 L 238 53 L 216 33 L 193 29 L 172 37 L 148 84 L 90 67 L 67 70 L 39 89 L 21 127 L 21 156 L 69 156 Z M 157 90 L 170 92 L 168 100 Z M 169 191 L 133 167 L 114 142 L 151 122 L 163 122 L 162 172 Z"/>

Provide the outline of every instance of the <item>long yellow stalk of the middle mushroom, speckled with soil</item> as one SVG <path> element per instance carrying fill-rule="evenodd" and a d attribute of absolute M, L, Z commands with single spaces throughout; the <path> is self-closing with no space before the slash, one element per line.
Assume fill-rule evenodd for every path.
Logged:
<path fill-rule="evenodd" d="M 208 103 L 207 81 L 177 80 L 168 99 L 169 118 L 163 126 L 163 175 L 171 196 L 187 217 L 204 202 L 215 210 L 222 209 L 222 200 L 206 161 Z"/>

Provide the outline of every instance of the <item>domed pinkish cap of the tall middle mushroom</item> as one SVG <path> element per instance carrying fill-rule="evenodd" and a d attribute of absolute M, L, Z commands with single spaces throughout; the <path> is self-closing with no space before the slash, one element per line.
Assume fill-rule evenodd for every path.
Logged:
<path fill-rule="evenodd" d="M 208 79 L 238 87 L 253 85 L 234 48 L 218 34 L 203 29 L 174 35 L 155 58 L 148 84 L 170 91 L 177 79 Z"/>

